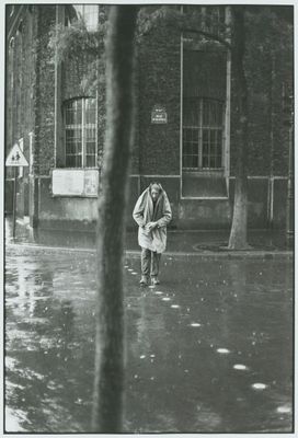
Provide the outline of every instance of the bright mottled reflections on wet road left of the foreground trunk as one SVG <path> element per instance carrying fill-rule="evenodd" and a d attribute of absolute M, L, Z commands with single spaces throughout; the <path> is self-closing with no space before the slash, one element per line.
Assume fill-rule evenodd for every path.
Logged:
<path fill-rule="evenodd" d="M 8 265 L 7 405 L 16 417 L 25 413 L 25 430 L 79 431 L 90 414 L 74 403 L 90 400 L 92 391 L 92 381 L 84 384 L 93 365 L 88 324 L 74 324 L 71 296 L 61 301 L 53 293 L 54 275 L 61 276 L 57 262 L 38 257 L 18 254 L 18 264 L 11 258 Z"/>

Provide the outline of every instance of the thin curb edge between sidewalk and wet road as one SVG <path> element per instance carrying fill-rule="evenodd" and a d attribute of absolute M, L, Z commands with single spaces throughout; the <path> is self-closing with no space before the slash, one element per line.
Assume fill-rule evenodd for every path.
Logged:
<path fill-rule="evenodd" d="M 7 243 L 7 249 L 26 249 L 26 250 L 37 250 L 37 251 L 54 251 L 54 252 L 65 252 L 65 253 L 96 253 L 95 249 L 84 249 L 84 247 L 66 247 L 66 246 L 43 246 L 43 245 L 34 245 L 34 244 L 26 244 L 26 243 Z M 140 256 L 140 251 L 138 250 L 126 250 L 126 256 L 131 256 L 133 258 Z M 202 252 L 194 252 L 194 251 L 167 251 L 164 253 L 165 257 L 198 257 L 198 258 L 265 258 L 265 260 L 273 260 L 273 258 L 293 258 L 294 251 L 202 251 Z"/>

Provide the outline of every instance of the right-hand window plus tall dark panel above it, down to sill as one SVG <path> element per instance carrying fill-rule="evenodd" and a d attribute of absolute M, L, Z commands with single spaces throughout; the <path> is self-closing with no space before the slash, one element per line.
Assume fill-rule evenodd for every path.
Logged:
<path fill-rule="evenodd" d="M 183 161 L 184 170 L 224 166 L 226 69 L 225 53 L 183 51 Z"/>

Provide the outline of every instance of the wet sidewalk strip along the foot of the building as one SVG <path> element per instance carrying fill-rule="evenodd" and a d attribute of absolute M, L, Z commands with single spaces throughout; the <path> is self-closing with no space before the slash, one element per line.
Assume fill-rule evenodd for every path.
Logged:
<path fill-rule="evenodd" d="M 220 231 L 193 231 L 169 230 L 169 255 L 196 255 L 196 256 L 293 256 L 294 239 L 288 239 L 285 231 L 280 230 L 249 230 L 250 250 L 229 251 L 229 230 Z M 16 220 L 16 237 L 12 238 L 12 219 L 5 218 L 5 243 L 19 245 L 62 247 L 65 250 L 94 251 L 94 232 L 33 230 L 28 224 L 28 218 Z M 137 242 L 137 228 L 126 233 L 125 250 L 128 254 L 139 254 Z"/>

